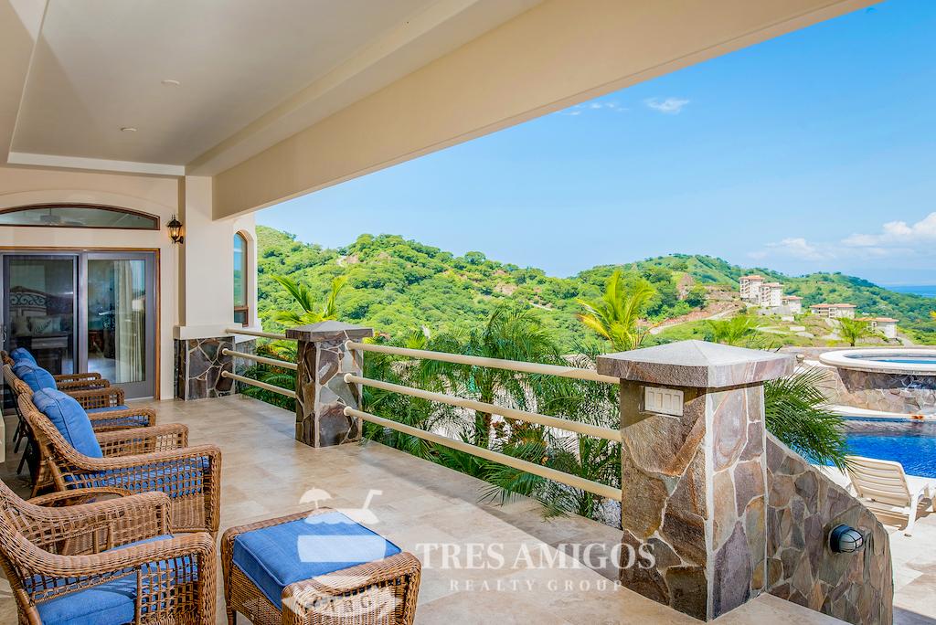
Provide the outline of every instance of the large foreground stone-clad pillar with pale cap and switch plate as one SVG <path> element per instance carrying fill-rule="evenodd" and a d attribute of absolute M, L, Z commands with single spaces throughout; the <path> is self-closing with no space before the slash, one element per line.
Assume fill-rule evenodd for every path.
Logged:
<path fill-rule="evenodd" d="M 623 586 L 709 620 L 765 589 L 764 382 L 794 360 L 683 341 L 598 358 L 621 378 Z M 646 567 L 646 568 L 645 568 Z"/>

